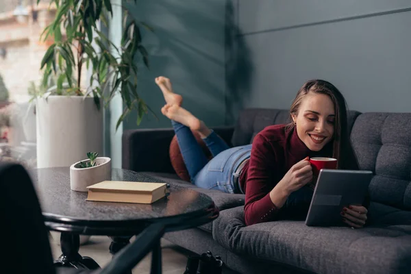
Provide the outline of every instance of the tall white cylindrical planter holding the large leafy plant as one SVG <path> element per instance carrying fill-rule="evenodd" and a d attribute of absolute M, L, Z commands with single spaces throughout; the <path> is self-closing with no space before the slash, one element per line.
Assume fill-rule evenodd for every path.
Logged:
<path fill-rule="evenodd" d="M 84 159 L 87 152 L 103 155 L 101 109 L 97 110 L 91 97 L 38 98 L 37 167 L 70 166 Z"/>

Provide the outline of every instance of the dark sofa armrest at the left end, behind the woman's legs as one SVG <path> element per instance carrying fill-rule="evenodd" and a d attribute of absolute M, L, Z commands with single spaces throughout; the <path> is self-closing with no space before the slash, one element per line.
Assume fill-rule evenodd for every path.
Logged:
<path fill-rule="evenodd" d="M 234 127 L 214 127 L 213 130 L 231 147 Z M 125 130 L 122 136 L 123 169 L 175 173 L 169 155 L 173 136 L 172 128 Z"/>

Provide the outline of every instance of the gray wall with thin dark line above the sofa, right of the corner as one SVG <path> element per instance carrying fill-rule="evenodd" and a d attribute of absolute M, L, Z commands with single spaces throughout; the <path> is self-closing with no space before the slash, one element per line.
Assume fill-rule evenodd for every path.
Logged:
<path fill-rule="evenodd" d="M 226 51 L 243 54 L 227 60 L 228 123 L 243 106 L 288 108 L 314 78 L 336 85 L 351 110 L 411 111 L 410 0 L 231 3 L 238 33 Z M 252 69 L 238 71 L 238 58 Z"/>

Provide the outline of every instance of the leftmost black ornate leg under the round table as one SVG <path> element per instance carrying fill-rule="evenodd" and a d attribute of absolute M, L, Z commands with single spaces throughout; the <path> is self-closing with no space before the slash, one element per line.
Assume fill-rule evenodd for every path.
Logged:
<path fill-rule="evenodd" d="M 90 257 L 82 257 L 79 254 L 80 236 L 69 232 L 60 235 L 62 255 L 54 261 L 55 266 L 69 266 L 75 269 L 99 269 L 100 266 Z"/>

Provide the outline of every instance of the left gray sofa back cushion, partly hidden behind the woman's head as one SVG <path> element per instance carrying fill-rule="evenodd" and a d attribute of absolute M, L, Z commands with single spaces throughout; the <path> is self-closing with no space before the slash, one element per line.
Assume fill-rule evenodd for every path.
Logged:
<path fill-rule="evenodd" d="M 351 132 L 351 127 L 358 115 L 360 115 L 360 112 L 358 111 L 349 111 L 347 117 L 349 133 Z M 262 131 L 264 127 L 284 123 L 290 123 L 289 110 L 246 108 L 240 112 L 237 119 L 232 136 L 232 144 L 234 147 L 249 145 L 253 142 L 253 138 L 256 134 Z"/>

